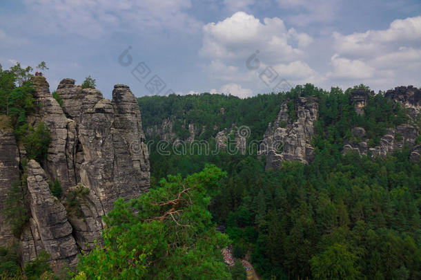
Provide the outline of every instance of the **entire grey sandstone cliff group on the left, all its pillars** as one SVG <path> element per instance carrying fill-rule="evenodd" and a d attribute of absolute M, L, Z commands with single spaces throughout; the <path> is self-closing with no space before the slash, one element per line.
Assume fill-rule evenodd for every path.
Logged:
<path fill-rule="evenodd" d="M 117 198 L 136 198 L 149 188 L 149 156 L 135 96 L 116 84 L 112 100 L 96 89 L 64 79 L 57 88 L 63 106 L 50 95 L 44 77 L 32 77 L 37 112 L 30 124 L 45 122 L 51 143 L 45 162 L 27 165 L 29 223 L 19 239 L 23 263 L 45 250 L 57 270 L 74 266 L 79 248 L 90 250 L 100 239 L 107 214 Z M 19 156 L 12 131 L 0 127 L 0 209 L 12 181 L 19 178 Z M 49 183 L 59 180 L 61 200 Z M 76 203 L 75 203 L 76 202 Z M 76 205 L 76 206 L 75 206 Z M 0 218 L 0 245 L 13 239 Z M 99 240 L 100 242 L 100 240 Z"/>

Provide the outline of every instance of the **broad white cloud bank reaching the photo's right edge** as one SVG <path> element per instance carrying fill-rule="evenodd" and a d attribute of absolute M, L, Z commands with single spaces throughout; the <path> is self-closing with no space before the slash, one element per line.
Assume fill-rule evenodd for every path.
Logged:
<path fill-rule="evenodd" d="M 329 77 L 353 80 L 378 88 L 395 83 L 419 84 L 421 69 L 421 17 L 396 19 L 384 30 L 351 35 L 333 33 L 336 55 Z"/>

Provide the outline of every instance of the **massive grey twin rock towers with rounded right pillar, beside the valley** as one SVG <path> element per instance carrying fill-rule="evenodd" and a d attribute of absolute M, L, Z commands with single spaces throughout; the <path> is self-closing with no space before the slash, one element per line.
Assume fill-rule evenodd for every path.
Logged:
<path fill-rule="evenodd" d="M 148 148 L 139 105 L 128 86 L 116 84 L 111 101 L 96 89 L 82 89 L 72 79 L 62 80 L 57 93 L 76 131 L 68 158 L 77 183 L 89 190 L 79 199 L 77 214 L 69 215 L 78 245 L 87 250 L 86 243 L 92 245 L 104 226 L 101 216 L 117 198 L 136 198 L 148 190 Z M 69 189 L 74 191 L 74 187 Z"/>

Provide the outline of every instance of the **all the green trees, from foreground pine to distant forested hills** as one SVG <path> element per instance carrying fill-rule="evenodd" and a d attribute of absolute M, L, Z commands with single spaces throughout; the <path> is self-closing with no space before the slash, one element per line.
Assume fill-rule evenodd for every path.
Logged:
<path fill-rule="evenodd" d="M 19 64 L 0 68 L 1 128 L 14 132 L 28 158 L 43 162 L 50 138 L 45 124 L 28 121 L 37 111 L 30 71 Z M 315 96 L 315 158 L 309 165 L 284 162 L 280 170 L 265 170 L 264 156 L 255 151 L 207 155 L 187 147 L 186 155 L 177 155 L 168 146 L 164 155 L 157 139 L 148 139 L 155 141 L 149 145 L 150 192 L 117 200 L 104 217 L 104 241 L 90 254 L 82 252 L 77 271 L 58 277 L 244 279 L 239 262 L 232 268 L 223 262 L 222 248 L 232 245 L 234 256 L 249 257 L 262 279 L 420 279 L 420 162 L 409 159 L 408 147 L 386 158 L 342 155 L 344 141 L 358 140 L 353 127 L 363 127 L 373 147 L 387 128 L 411 122 L 420 129 L 420 122 L 381 92 L 369 95 L 364 115 L 358 115 L 350 97 L 361 88 L 368 90 L 306 84 L 244 100 L 208 93 L 139 98 L 144 129 L 169 118 L 177 137 L 186 139 L 186 124 L 193 123 L 208 128 L 197 139 L 212 146 L 216 133 L 233 123 L 251 128 L 248 141 L 262 140 L 282 102 L 295 118 L 293 100 Z M 16 236 L 28 223 L 26 162 L 21 165 L 4 213 Z M 50 188 L 61 196 L 58 181 Z M 221 225 L 225 233 L 216 230 Z M 54 279 L 48 259 L 39 254 L 23 276 L 17 248 L 0 248 L 0 277 Z"/>

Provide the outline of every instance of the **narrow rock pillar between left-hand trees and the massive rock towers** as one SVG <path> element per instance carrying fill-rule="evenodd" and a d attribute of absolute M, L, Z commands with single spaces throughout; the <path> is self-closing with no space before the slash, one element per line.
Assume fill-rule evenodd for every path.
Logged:
<path fill-rule="evenodd" d="M 35 101 L 39 111 L 33 125 L 45 122 L 50 130 L 51 143 L 48 147 L 48 155 L 45 170 L 50 179 L 57 178 L 63 189 L 76 185 L 77 178 L 72 161 L 66 154 L 75 146 L 75 129 L 68 128 L 69 120 L 64 115 L 59 103 L 50 94 L 48 82 L 45 77 L 34 76 L 31 78 L 35 88 Z"/>

